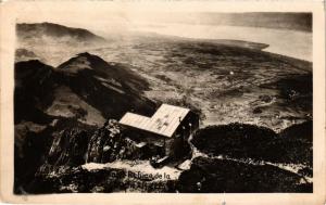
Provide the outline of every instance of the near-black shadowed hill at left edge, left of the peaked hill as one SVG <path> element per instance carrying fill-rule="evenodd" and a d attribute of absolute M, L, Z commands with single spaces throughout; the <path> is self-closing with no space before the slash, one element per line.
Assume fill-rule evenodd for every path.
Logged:
<path fill-rule="evenodd" d="M 42 110 L 53 101 L 54 69 L 38 60 L 15 63 L 14 119 L 49 123 Z"/>

